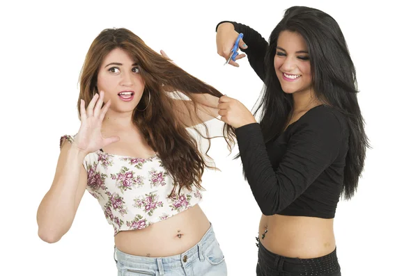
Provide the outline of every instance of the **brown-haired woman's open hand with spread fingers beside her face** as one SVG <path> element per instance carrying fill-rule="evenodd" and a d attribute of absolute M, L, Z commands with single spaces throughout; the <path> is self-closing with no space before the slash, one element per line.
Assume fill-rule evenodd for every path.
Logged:
<path fill-rule="evenodd" d="M 75 136 L 73 146 L 86 155 L 119 140 L 118 136 L 111 136 L 109 138 L 103 138 L 102 136 L 102 122 L 111 104 L 109 99 L 102 107 L 103 98 L 103 91 L 100 91 L 100 96 L 96 93 L 88 104 L 87 109 L 84 100 L 82 99 L 80 102 L 82 125 L 77 136 Z"/>

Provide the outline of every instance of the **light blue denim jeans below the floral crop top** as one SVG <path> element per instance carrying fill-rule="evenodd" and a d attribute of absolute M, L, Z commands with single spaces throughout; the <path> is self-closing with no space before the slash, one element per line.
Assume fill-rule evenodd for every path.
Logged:
<path fill-rule="evenodd" d="M 140 257 L 115 247 L 118 276 L 226 276 L 224 254 L 212 224 L 203 238 L 182 254 L 170 257 Z"/>

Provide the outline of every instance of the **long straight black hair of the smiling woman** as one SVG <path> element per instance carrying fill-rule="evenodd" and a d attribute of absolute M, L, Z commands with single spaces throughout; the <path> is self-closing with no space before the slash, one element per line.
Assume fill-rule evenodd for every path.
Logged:
<path fill-rule="evenodd" d="M 265 55 L 265 85 L 261 102 L 256 108 L 256 113 L 261 109 L 260 124 L 265 143 L 284 130 L 293 112 L 293 97 L 281 89 L 274 70 L 277 38 L 285 30 L 300 33 L 307 43 L 316 97 L 341 111 L 348 119 L 350 138 L 341 195 L 349 200 L 357 190 L 369 142 L 357 102 L 355 66 L 346 39 L 334 18 L 321 10 L 304 6 L 288 8 L 270 35 Z"/>

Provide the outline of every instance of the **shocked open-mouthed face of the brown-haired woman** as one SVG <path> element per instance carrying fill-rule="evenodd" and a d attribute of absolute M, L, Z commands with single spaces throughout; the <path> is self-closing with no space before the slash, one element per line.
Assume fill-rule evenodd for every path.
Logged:
<path fill-rule="evenodd" d="M 109 110 L 116 113 L 134 111 L 144 93 L 145 83 L 131 56 L 116 48 L 107 54 L 98 72 L 98 90 L 104 102 L 111 99 Z"/>

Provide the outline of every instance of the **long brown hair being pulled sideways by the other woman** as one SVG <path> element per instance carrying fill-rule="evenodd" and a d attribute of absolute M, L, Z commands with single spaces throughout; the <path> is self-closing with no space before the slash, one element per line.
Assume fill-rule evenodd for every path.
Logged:
<path fill-rule="evenodd" d="M 173 99 L 169 97 L 167 90 L 179 91 L 190 99 L 193 93 L 208 93 L 216 97 L 221 97 L 222 93 L 157 54 L 132 31 L 123 28 L 104 29 L 93 40 L 80 76 L 80 94 L 77 103 L 79 115 L 80 100 L 84 99 L 87 106 L 97 92 L 98 71 L 102 60 L 116 48 L 130 54 L 144 79 L 144 94 L 134 110 L 132 120 L 173 177 L 174 188 L 171 195 L 177 186 L 179 193 L 181 188 L 186 187 L 190 190 L 193 185 L 203 189 L 201 186 L 203 170 L 214 167 L 206 163 L 199 152 L 198 143 L 185 129 L 186 126 L 178 115 L 173 112 Z M 193 106 L 193 110 L 187 108 L 189 115 L 196 114 L 196 103 L 193 102 Z M 208 134 L 206 124 L 203 125 Z M 196 128 L 194 130 L 209 140 L 210 148 L 208 135 L 203 136 Z M 234 137 L 233 128 L 225 124 L 224 138 L 230 150 Z"/>

